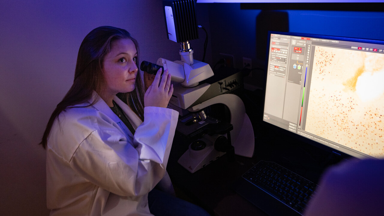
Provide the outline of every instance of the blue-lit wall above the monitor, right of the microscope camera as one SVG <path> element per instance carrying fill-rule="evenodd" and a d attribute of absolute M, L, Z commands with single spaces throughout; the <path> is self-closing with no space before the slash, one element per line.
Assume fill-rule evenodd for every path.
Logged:
<path fill-rule="evenodd" d="M 252 58 L 253 67 L 264 67 L 265 59 L 256 55 L 256 25 L 261 10 L 240 10 L 239 3 L 211 3 L 209 5 L 212 32 L 212 62 L 220 53 L 234 56 L 234 65 L 242 67 L 243 58 Z M 343 37 L 384 40 L 384 12 L 281 10 L 288 18 L 290 32 L 313 33 Z M 273 17 L 271 17 L 273 19 Z M 278 25 L 275 21 L 270 28 Z M 264 28 L 264 27 L 262 27 Z M 259 35 L 260 37 L 260 35 Z M 263 71 L 249 77 L 253 87 L 262 88 Z M 256 76 L 255 76 L 256 75 Z"/>

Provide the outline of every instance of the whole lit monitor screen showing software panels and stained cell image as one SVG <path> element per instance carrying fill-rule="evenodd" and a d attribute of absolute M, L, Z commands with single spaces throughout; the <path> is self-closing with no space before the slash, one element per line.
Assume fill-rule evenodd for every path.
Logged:
<path fill-rule="evenodd" d="M 336 154 L 384 156 L 383 41 L 268 32 L 268 44 L 263 122 Z"/>

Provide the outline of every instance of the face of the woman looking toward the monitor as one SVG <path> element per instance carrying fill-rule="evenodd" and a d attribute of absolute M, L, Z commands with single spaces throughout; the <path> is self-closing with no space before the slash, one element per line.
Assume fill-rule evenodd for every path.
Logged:
<path fill-rule="evenodd" d="M 111 45 L 104 57 L 103 73 L 106 81 L 105 93 L 116 95 L 135 89 L 137 75 L 137 50 L 130 39 L 120 39 Z"/>

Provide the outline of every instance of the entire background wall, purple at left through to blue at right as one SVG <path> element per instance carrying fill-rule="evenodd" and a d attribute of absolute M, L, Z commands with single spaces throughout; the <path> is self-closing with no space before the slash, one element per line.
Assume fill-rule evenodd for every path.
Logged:
<path fill-rule="evenodd" d="M 140 44 L 141 60 L 179 60 L 179 44 L 166 38 L 161 0 L 19 0 L 0 2 L 0 212 L 47 215 L 45 150 L 38 146 L 48 118 L 73 81 L 79 45 L 101 25 L 125 28 Z M 260 10 L 239 4 L 197 4 L 207 28 L 207 63 L 219 53 L 262 65 L 255 54 Z M 292 32 L 384 39 L 384 13 L 286 11 Z M 205 34 L 191 42 L 201 60 Z M 254 76 L 256 77 L 256 76 Z M 250 79 L 252 80 L 252 79 Z M 253 79 L 255 81 L 255 79 Z M 256 82 L 256 81 L 255 81 Z"/>

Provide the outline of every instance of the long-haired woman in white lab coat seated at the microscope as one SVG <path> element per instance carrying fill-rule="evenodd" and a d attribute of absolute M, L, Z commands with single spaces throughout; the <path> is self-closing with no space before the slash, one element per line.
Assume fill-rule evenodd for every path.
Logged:
<path fill-rule="evenodd" d="M 73 85 L 41 141 L 51 215 L 152 215 L 148 193 L 161 181 L 172 191 L 173 86 L 158 71 L 144 94 L 138 54 L 120 28 L 96 28 L 81 43 Z"/>

